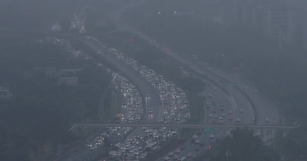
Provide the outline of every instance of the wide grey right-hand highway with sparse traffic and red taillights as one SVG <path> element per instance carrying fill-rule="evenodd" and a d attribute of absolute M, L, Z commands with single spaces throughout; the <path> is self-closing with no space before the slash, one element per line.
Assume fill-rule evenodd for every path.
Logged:
<path fill-rule="evenodd" d="M 116 15 L 116 16 L 115 16 Z M 118 23 L 118 21 L 121 20 L 120 14 L 114 14 L 112 15 L 114 17 L 117 17 L 117 21 L 115 23 Z M 213 90 L 213 86 L 206 87 L 206 91 L 202 93 L 202 96 L 208 96 L 209 94 L 212 94 L 212 98 L 208 98 L 206 102 L 211 101 L 216 102 L 217 104 L 222 104 L 223 108 L 231 108 L 233 110 L 233 117 L 239 118 L 240 122 L 233 124 L 263 124 L 263 125 L 277 125 L 282 123 L 282 117 L 280 115 L 280 112 L 278 111 L 278 104 L 271 99 L 271 97 L 268 97 L 265 93 L 260 90 L 260 88 L 257 88 L 253 83 L 246 81 L 241 75 L 230 73 L 229 71 L 224 71 L 219 69 L 218 67 L 213 66 L 203 66 L 201 63 L 189 63 L 187 60 L 190 60 L 187 56 L 178 56 L 178 54 L 174 53 L 171 50 L 166 51 L 165 49 L 167 46 L 164 44 L 161 44 L 152 38 L 148 37 L 147 35 L 143 34 L 142 32 L 136 30 L 134 27 L 129 26 L 125 24 L 125 26 L 119 25 L 118 26 L 122 30 L 130 31 L 134 33 L 134 35 L 137 35 L 139 38 L 143 39 L 144 41 L 148 42 L 149 44 L 156 46 L 158 49 L 161 49 L 165 54 L 173 57 L 175 60 L 181 62 L 184 64 L 184 66 L 188 69 L 190 69 L 190 72 L 196 73 L 197 77 L 202 78 L 203 74 L 207 74 L 211 79 L 213 79 L 216 83 L 219 83 L 219 81 L 226 79 L 229 82 L 234 82 L 239 87 L 239 89 L 244 90 L 246 87 L 249 89 L 246 91 L 246 94 L 251 99 L 252 103 L 255 106 L 255 109 L 252 108 L 252 105 L 247 100 L 246 96 L 243 96 L 242 91 L 239 91 L 236 87 L 226 87 L 226 91 L 229 93 L 229 96 L 225 95 L 219 88 L 217 90 Z M 206 81 L 203 79 L 203 81 Z M 259 93 L 254 93 L 254 89 L 259 89 Z M 219 106 L 217 106 L 219 107 Z M 206 122 L 210 123 L 212 119 L 209 117 L 210 113 L 213 113 L 211 108 L 206 108 Z M 240 110 L 243 110 L 241 113 Z M 266 123 L 266 119 L 269 119 Z M 254 120 L 257 120 L 257 122 L 254 122 Z M 224 119 L 225 122 L 225 119 Z M 231 122 L 227 123 L 231 124 Z M 257 127 L 255 127 L 257 128 Z M 269 131 L 262 131 L 259 128 L 255 130 L 256 132 L 260 132 L 261 136 L 264 141 L 269 140 L 272 137 L 269 137 Z M 215 135 L 216 137 L 223 137 L 225 136 L 227 131 L 225 130 L 218 130 L 216 131 Z M 205 144 L 208 145 L 208 135 L 202 135 L 200 136 L 201 139 L 205 140 Z M 183 153 L 186 153 L 186 151 L 191 151 L 193 148 L 189 143 L 187 144 L 187 150 L 184 150 Z"/>

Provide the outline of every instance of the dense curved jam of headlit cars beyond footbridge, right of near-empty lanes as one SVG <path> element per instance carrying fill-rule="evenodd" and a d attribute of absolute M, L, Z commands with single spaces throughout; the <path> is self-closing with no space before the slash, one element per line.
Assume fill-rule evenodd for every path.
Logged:
<path fill-rule="evenodd" d="M 154 70 L 140 65 L 136 60 L 129 58 L 125 54 L 118 52 L 115 48 L 110 48 L 110 52 L 117 58 L 123 60 L 126 64 L 131 65 L 134 70 L 138 71 L 143 77 L 151 83 L 160 94 L 164 111 L 159 123 L 184 123 L 190 118 L 189 102 L 185 93 L 176 85 L 157 74 Z M 149 98 L 149 95 L 145 95 Z M 152 114 L 152 109 L 148 109 L 148 114 Z"/>

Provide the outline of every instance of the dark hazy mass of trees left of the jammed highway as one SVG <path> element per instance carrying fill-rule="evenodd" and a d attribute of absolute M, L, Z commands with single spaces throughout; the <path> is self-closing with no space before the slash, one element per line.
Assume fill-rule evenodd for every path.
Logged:
<path fill-rule="evenodd" d="M 94 63 L 74 61 L 54 45 L 27 39 L 1 39 L 0 53 L 0 86 L 13 93 L 0 101 L 0 160 L 47 160 L 58 145 L 78 139 L 68 131 L 73 122 L 98 120 L 99 100 L 111 77 Z M 31 72 L 45 66 L 83 68 L 75 75 L 80 86 L 59 86 L 57 77 Z"/>

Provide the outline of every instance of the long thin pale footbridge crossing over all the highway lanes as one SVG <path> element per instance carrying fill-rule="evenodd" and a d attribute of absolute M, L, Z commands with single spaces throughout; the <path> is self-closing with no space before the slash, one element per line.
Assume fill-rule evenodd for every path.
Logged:
<path fill-rule="evenodd" d="M 294 126 L 282 125 L 201 125 L 201 124 L 75 124 L 69 130 L 75 128 L 99 128 L 99 127 L 149 127 L 149 128 L 203 128 L 203 127 L 216 127 L 216 128 L 237 128 L 248 127 L 251 129 L 281 129 L 292 130 Z"/>

